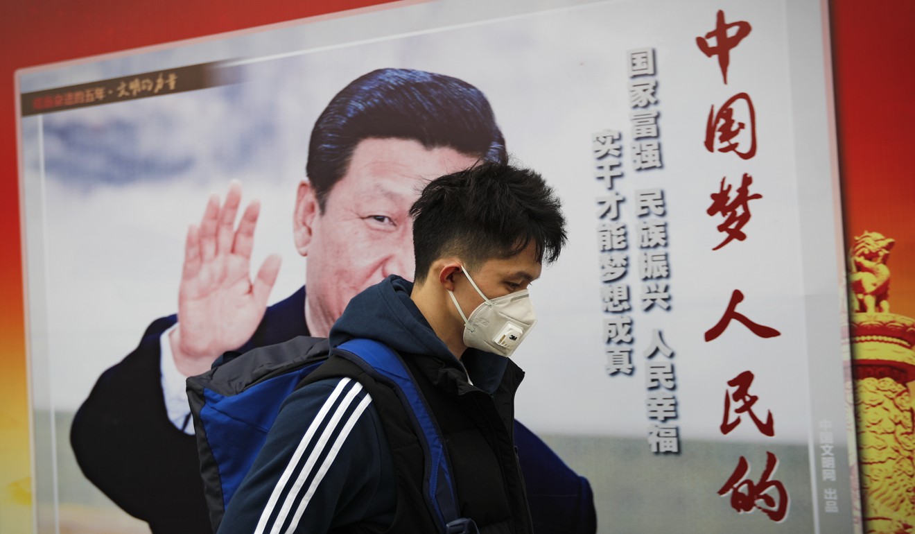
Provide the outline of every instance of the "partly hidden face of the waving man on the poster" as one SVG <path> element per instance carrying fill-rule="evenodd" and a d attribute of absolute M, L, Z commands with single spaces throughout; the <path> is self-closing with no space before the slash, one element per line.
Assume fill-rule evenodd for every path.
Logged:
<path fill-rule="evenodd" d="M 326 336 L 347 303 L 391 274 L 413 278 L 410 206 L 425 183 L 467 169 L 477 158 L 414 140 L 361 141 L 347 173 L 330 190 L 324 213 L 311 187 L 299 186 L 296 246 L 308 257 L 306 318 Z"/>

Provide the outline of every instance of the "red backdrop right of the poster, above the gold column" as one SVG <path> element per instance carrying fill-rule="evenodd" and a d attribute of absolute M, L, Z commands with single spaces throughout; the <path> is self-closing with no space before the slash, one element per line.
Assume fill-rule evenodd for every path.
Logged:
<path fill-rule="evenodd" d="M 915 2 L 831 9 L 845 242 L 865 230 L 896 239 L 889 310 L 915 317 Z"/>

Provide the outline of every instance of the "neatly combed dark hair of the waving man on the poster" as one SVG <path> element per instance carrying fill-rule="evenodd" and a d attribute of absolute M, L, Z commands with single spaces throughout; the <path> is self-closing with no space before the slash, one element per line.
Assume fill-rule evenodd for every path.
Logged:
<path fill-rule="evenodd" d="M 308 180 L 323 212 L 327 196 L 367 138 L 414 139 L 490 161 L 507 160 L 505 140 L 486 96 L 473 85 L 435 72 L 380 69 L 337 93 L 315 122 Z"/>

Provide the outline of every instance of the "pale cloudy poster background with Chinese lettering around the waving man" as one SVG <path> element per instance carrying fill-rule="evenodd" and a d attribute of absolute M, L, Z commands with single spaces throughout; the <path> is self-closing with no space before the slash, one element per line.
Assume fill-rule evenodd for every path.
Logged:
<path fill-rule="evenodd" d="M 694 531 L 852 529 L 821 6 L 532 9 L 407 5 L 23 74 L 39 530 L 124 517 L 82 478 L 70 420 L 175 311 L 210 191 L 260 200 L 253 269 L 281 255 L 271 302 L 294 293 L 311 126 L 386 67 L 479 88 L 565 203 L 517 417 L 590 480 L 600 531 L 687 510 Z"/>

